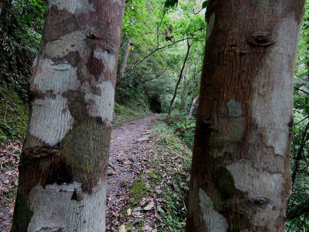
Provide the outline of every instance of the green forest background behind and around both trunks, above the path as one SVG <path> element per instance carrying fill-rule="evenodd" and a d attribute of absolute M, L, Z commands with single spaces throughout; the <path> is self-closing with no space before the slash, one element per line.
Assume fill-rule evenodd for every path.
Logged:
<path fill-rule="evenodd" d="M 40 44 L 46 5 L 46 0 L 0 1 L 2 144 L 23 140 L 27 129 L 27 82 Z M 198 100 L 192 117 L 188 114 L 199 94 L 207 26 L 204 6 L 202 1 L 181 1 L 177 7 L 164 7 L 162 1 L 157 0 L 126 1 L 114 127 L 152 113 L 167 113 L 180 79 L 167 125 L 189 148 L 193 147 Z M 294 125 L 290 154 L 294 184 L 288 203 L 287 231 L 309 230 L 308 20 L 309 1 L 306 1 L 294 75 Z"/>

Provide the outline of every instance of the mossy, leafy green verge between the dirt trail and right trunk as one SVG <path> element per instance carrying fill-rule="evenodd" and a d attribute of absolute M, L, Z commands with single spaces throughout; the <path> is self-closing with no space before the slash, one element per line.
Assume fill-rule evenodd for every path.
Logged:
<path fill-rule="evenodd" d="M 152 171 L 141 173 L 136 178 L 130 188 L 129 197 L 132 201 L 125 208 L 140 207 L 143 198 L 157 199 L 155 211 L 159 215 L 156 219 L 158 232 L 182 232 L 186 219 L 192 152 L 173 135 L 172 128 L 166 123 L 156 120 L 154 132 L 157 138 L 149 166 Z M 128 231 L 131 229 L 129 227 Z M 141 228 L 138 231 L 143 230 Z"/>

